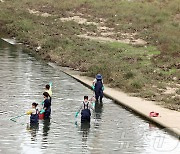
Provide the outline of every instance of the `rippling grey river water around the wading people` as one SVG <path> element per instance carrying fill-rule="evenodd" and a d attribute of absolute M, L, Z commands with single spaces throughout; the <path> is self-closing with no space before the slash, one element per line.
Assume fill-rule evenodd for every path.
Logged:
<path fill-rule="evenodd" d="M 180 153 L 179 141 L 147 121 L 104 98 L 96 103 L 91 124 L 75 123 L 84 95 L 92 91 L 66 74 L 0 41 L 0 154 L 56 153 Z M 41 103 L 52 81 L 52 114 L 32 127 L 24 113 Z"/>

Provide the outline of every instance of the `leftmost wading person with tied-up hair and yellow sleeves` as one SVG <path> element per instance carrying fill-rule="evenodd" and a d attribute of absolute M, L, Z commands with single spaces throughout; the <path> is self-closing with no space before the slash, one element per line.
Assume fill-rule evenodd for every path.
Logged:
<path fill-rule="evenodd" d="M 27 115 L 31 115 L 30 116 L 30 124 L 38 124 L 38 122 L 39 122 L 39 111 L 36 108 L 37 105 L 38 105 L 37 103 L 32 103 L 32 109 L 30 109 L 26 112 Z"/>

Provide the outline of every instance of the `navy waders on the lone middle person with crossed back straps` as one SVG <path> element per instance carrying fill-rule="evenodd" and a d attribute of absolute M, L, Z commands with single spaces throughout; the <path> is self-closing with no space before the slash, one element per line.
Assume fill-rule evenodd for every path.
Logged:
<path fill-rule="evenodd" d="M 84 103 L 84 102 L 83 102 Z M 91 119 L 91 111 L 90 109 L 88 108 L 88 104 L 85 105 L 84 103 L 84 109 L 81 111 L 81 123 L 84 123 L 84 122 L 90 122 L 90 119 Z"/>

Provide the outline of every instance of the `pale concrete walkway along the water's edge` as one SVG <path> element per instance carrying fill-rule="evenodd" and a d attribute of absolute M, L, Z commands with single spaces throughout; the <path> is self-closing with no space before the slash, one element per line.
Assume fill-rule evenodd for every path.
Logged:
<path fill-rule="evenodd" d="M 92 86 L 93 78 L 81 76 L 80 72 L 61 67 L 61 70 L 75 78 L 88 87 Z M 155 122 L 164 127 L 180 139 L 180 112 L 169 110 L 156 105 L 156 102 L 143 100 L 142 98 L 132 97 L 119 90 L 109 88 L 105 85 L 104 95 L 115 100 L 117 103 L 128 107 L 142 117 Z M 158 117 L 150 117 L 151 111 L 158 112 Z"/>

